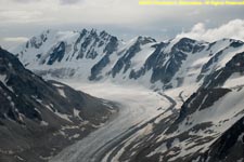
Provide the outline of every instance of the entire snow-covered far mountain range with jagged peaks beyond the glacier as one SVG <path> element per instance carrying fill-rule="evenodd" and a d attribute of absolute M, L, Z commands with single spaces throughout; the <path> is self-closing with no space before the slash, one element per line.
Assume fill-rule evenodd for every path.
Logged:
<path fill-rule="evenodd" d="M 203 42 L 176 38 L 157 42 L 138 37 L 128 42 L 105 31 L 47 30 L 12 50 L 26 68 L 41 76 L 140 83 L 152 89 L 195 84 L 220 70 L 244 42 Z"/>

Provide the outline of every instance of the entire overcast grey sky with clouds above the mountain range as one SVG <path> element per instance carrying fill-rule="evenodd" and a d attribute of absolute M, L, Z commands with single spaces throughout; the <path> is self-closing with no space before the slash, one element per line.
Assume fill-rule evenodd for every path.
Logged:
<path fill-rule="evenodd" d="M 0 0 L 0 45 L 10 48 L 49 28 L 104 29 L 125 40 L 139 35 L 157 40 L 177 35 L 209 41 L 244 38 L 244 5 L 142 6 L 138 1 Z"/>

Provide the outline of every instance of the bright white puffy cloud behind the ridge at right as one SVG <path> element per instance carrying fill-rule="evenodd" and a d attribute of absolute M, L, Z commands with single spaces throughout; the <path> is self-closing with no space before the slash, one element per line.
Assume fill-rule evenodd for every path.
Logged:
<path fill-rule="evenodd" d="M 188 37 L 196 40 L 213 42 L 223 38 L 232 38 L 244 41 L 244 19 L 233 19 L 217 28 L 207 29 L 204 23 L 197 23 L 191 31 L 182 32 L 178 38 Z"/>

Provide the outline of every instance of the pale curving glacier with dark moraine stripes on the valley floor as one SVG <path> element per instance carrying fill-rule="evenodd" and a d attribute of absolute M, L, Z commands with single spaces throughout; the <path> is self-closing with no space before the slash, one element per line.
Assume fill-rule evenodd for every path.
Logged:
<path fill-rule="evenodd" d="M 79 83 L 64 81 L 76 90 L 120 105 L 118 117 L 91 133 L 82 140 L 64 149 L 51 162 L 118 161 L 124 147 L 137 136 L 152 131 L 150 120 L 159 117 L 177 103 L 151 90 L 139 86 L 120 86 L 111 83 Z M 121 145 L 123 144 L 123 145 Z"/>

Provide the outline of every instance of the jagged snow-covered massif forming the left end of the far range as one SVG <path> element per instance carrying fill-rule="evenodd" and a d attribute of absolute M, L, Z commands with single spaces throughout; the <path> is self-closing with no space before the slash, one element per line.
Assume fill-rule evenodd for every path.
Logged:
<path fill-rule="evenodd" d="M 120 43 L 105 31 L 47 30 L 12 52 L 17 53 L 25 67 L 41 75 L 88 79 L 90 69 L 117 51 Z"/>

